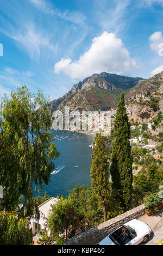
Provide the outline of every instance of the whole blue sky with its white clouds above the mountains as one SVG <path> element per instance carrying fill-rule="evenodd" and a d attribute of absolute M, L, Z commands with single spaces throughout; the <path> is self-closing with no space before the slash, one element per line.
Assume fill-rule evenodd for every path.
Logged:
<path fill-rule="evenodd" d="M 26 84 L 53 100 L 100 72 L 149 78 L 162 24 L 163 0 L 1 0 L 0 97 Z"/>

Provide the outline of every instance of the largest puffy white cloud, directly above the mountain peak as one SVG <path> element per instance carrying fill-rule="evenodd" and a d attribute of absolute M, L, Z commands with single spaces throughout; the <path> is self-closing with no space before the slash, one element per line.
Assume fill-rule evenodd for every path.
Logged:
<path fill-rule="evenodd" d="M 135 69 L 136 62 L 130 57 L 121 39 L 105 31 L 92 40 L 89 51 L 80 56 L 78 61 L 62 58 L 55 63 L 54 73 L 64 72 L 71 78 L 84 78 L 104 71 L 122 74 Z"/>

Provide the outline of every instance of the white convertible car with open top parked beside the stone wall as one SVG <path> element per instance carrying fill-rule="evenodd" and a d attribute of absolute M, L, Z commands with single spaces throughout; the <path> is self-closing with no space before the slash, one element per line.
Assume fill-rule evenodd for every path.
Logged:
<path fill-rule="evenodd" d="M 133 219 L 106 236 L 98 245 L 139 245 L 146 243 L 152 229 L 144 222 Z"/>

